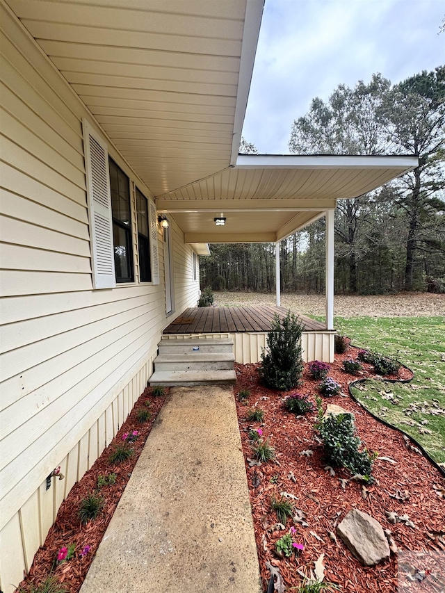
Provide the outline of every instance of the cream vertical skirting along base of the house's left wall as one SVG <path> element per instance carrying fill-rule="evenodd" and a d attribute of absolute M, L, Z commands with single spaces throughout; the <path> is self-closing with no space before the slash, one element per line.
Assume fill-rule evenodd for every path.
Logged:
<path fill-rule="evenodd" d="M 51 478 L 47 490 L 46 480 L 26 501 L 22 508 L 0 532 L 0 590 L 12 593 L 33 563 L 39 546 L 44 543 L 49 528 L 56 520 L 58 509 L 67 494 L 83 474 L 101 455 L 122 423 L 127 419 L 133 405 L 147 386 L 153 372 L 156 352 L 139 368 L 127 385 L 113 399 L 104 413 L 83 435 L 63 460 L 60 472 L 64 480 Z"/>

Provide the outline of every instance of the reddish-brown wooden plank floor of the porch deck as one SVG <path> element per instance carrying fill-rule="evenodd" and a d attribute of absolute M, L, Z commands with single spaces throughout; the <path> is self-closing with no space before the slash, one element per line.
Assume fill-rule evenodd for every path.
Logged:
<path fill-rule="evenodd" d="M 284 307 L 191 307 L 165 327 L 164 334 L 223 334 L 268 332 L 273 316 L 287 314 Z M 298 315 L 305 332 L 326 332 L 326 326 Z"/>

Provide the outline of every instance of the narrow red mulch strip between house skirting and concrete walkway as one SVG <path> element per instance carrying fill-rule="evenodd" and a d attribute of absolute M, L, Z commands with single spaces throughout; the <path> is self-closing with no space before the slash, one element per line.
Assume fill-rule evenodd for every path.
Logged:
<path fill-rule="evenodd" d="M 118 506 L 131 472 L 167 395 L 168 389 L 165 389 L 164 396 L 154 397 L 152 396 L 152 389 L 147 388 L 138 398 L 127 420 L 122 424 L 111 444 L 104 449 L 102 455 L 86 472 L 80 482 L 72 487 L 70 494 L 60 505 L 56 523 L 49 530 L 43 546 L 40 546 L 35 554 L 29 575 L 22 580 L 16 591 L 20 587 L 25 591 L 28 591 L 31 585 L 36 587 L 49 574 L 56 578 L 56 581 L 65 588 L 67 593 L 76 593 L 80 590 L 99 543 L 104 537 L 108 523 L 113 517 L 115 508 Z M 148 407 L 147 404 L 149 404 Z M 138 422 L 136 415 L 140 409 L 148 409 L 152 414 L 152 419 L 145 423 Z M 131 444 L 134 451 L 132 457 L 127 462 L 111 464 L 108 458 L 115 444 L 122 443 L 122 434 L 124 432 L 133 432 L 133 430 L 138 430 L 139 436 Z M 95 521 L 88 521 L 86 525 L 82 525 L 77 516 L 80 503 L 88 494 L 94 492 L 97 487 L 97 476 L 99 474 L 104 476 L 107 473 L 115 473 L 116 482 L 114 485 L 102 487 L 99 491 L 100 496 L 105 499 L 104 508 Z M 58 551 L 63 546 L 68 547 L 70 544 L 76 544 L 73 558 L 55 566 Z M 87 545 L 91 546 L 91 549 L 85 556 L 81 557 L 80 553 Z"/>

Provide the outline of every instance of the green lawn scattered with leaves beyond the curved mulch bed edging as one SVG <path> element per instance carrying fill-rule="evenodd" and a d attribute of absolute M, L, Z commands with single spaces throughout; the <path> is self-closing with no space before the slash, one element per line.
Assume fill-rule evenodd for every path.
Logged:
<path fill-rule="evenodd" d="M 445 319 L 337 317 L 334 327 L 349 336 L 353 346 L 396 358 L 414 371 L 410 383 L 368 380 L 353 388 L 354 396 L 445 463 Z M 410 407 L 414 412 L 406 414 Z M 384 448 L 382 443 L 381 455 Z"/>

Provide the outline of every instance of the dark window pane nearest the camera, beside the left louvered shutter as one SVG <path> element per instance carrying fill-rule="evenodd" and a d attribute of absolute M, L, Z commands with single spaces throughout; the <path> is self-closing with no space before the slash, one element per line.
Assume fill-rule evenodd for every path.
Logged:
<path fill-rule="evenodd" d="M 114 161 L 108 162 L 116 282 L 134 282 L 129 178 Z"/>

